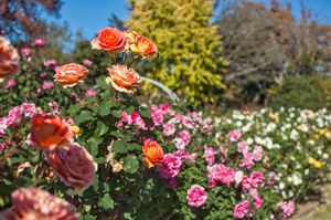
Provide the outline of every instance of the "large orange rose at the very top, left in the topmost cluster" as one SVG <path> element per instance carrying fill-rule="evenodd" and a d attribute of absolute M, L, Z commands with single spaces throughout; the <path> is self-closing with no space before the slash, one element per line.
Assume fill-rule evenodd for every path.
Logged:
<path fill-rule="evenodd" d="M 92 40 L 90 45 L 93 49 L 109 52 L 124 51 L 126 46 L 125 34 L 117 29 L 105 28 L 99 30 L 97 38 Z"/>

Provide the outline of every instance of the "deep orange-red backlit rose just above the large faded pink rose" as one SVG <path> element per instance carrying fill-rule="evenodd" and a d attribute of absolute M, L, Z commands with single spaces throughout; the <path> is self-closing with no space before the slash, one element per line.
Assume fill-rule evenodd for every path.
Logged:
<path fill-rule="evenodd" d="M 74 134 L 70 125 L 55 115 L 35 114 L 31 122 L 31 144 L 39 149 L 52 150 Z"/>

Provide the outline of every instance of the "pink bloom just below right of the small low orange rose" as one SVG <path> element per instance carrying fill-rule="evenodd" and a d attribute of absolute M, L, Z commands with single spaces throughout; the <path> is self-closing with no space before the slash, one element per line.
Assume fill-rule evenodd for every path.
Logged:
<path fill-rule="evenodd" d="M 159 174 L 163 179 L 174 178 L 181 168 L 182 161 L 181 158 L 172 155 L 166 154 L 163 156 L 162 165 L 159 167 Z"/>

